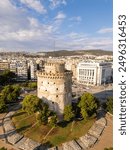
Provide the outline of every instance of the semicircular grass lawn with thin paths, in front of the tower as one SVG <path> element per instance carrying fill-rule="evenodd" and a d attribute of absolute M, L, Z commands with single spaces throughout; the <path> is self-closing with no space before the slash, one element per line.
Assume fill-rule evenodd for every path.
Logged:
<path fill-rule="evenodd" d="M 46 139 L 44 139 L 44 137 L 51 130 L 51 127 L 37 124 L 35 115 L 28 115 L 22 110 L 19 110 L 15 113 L 12 120 L 19 133 L 35 141 L 56 146 L 85 135 L 94 123 L 95 118 L 91 118 L 87 121 L 74 121 L 67 125 L 59 124 L 59 126 L 50 132 Z"/>

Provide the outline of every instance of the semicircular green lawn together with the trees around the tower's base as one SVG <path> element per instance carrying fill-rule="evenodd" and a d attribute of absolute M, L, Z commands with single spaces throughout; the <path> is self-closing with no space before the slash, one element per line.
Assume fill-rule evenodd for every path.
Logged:
<path fill-rule="evenodd" d="M 57 114 L 50 111 L 46 103 L 34 95 L 27 95 L 12 120 L 17 132 L 56 146 L 85 135 L 96 120 L 97 108 L 96 98 L 85 93 L 78 104 L 65 106 L 63 120 L 59 122 Z"/>

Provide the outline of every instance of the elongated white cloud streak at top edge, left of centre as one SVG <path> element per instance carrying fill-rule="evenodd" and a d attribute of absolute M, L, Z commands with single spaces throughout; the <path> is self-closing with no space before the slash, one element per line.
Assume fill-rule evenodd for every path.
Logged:
<path fill-rule="evenodd" d="M 28 8 L 34 9 L 38 13 L 47 12 L 39 0 L 20 0 L 20 2 L 25 4 Z"/>

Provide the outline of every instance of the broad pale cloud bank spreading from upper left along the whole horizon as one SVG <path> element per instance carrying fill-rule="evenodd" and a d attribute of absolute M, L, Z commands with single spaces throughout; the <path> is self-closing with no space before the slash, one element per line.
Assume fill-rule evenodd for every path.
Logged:
<path fill-rule="evenodd" d="M 61 34 L 59 28 L 66 14 L 57 15 L 43 23 L 27 10 L 17 7 L 10 0 L 0 1 L 0 49 L 41 51 L 55 49 L 110 49 L 111 37 L 92 37 L 86 33 L 71 31 Z"/>

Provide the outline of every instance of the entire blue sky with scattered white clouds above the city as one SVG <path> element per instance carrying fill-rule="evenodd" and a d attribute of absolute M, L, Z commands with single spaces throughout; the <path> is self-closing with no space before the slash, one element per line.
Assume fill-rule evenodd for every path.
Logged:
<path fill-rule="evenodd" d="M 112 0 L 0 0 L 0 51 L 112 51 Z"/>

